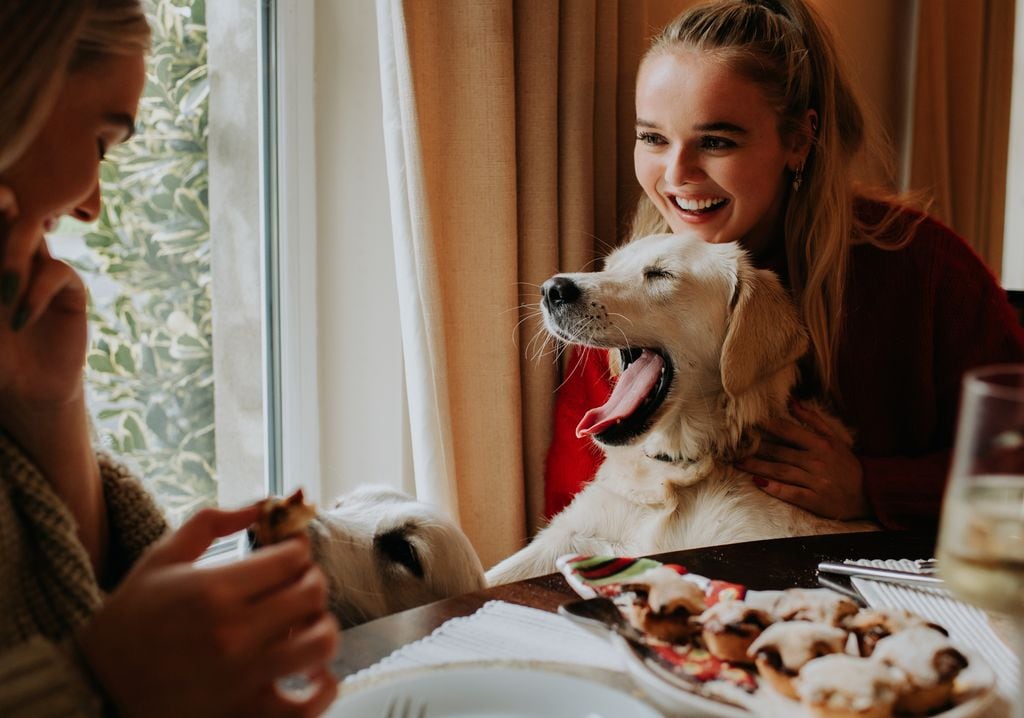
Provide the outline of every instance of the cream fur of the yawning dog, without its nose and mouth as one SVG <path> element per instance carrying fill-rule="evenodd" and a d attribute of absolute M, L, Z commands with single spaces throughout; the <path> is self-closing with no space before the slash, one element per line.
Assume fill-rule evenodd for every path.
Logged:
<path fill-rule="evenodd" d="M 528 546 L 490 568 L 489 584 L 551 573 L 566 553 L 631 556 L 877 527 L 784 503 L 732 465 L 757 451 L 762 424 L 788 414 L 808 346 L 775 274 L 755 268 L 734 244 L 656 235 L 617 249 L 602 271 L 559 274 L 546 288 L 559 278 L 579 297 L 542 303 L 552 334 L 611 349 L 613 366 L 618 348 L 656 347 L 674 380 L 648 429 L 629 445 L 603 446 L 595 479 Z"/>

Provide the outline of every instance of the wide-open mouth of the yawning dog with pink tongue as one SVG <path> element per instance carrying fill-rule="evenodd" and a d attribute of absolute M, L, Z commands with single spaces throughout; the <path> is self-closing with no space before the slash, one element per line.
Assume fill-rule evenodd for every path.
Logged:
<path fill-rule="evenodd" d="M 672 363 L 658 349 L 620 349 L 623 373 L 601 407 L 591 409 L 577 436 L 616 447 L 644 433 L 672 386 Z"/>

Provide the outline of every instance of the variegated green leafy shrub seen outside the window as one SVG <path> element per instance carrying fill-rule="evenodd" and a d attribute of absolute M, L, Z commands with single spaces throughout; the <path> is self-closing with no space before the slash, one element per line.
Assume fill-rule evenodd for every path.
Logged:
<path fill-rule="evenodd" d="M 87 384 L 100 442 L 179 522 L 217 495 L 206 7 L 151 0 L 147 11 L 137 134 L 102 165 L 103 212 L 75 263 L 93 287 Z"/>

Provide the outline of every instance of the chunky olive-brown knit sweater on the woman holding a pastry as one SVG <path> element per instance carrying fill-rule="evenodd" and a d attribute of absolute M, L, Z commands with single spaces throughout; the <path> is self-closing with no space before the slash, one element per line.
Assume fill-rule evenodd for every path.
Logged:
<path fill-rule="evenodd" d="M 0 432 L 0 716 L 96 716 L 103 711 L 72 635 L 166 530 L 124 467 L 99 455 L 110 529 L 100 586 L 71 511 Z"/>

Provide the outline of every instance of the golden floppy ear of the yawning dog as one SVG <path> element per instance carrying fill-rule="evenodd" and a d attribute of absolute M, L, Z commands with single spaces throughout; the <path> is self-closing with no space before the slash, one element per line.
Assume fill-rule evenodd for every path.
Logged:
<path fill-rule="evenodd" d="M 781 370 L 788 370 L 790 388 L 796 380 L 796 363 L 807 350 L 807 333 L 797 315 L 793 298 L 778 278 L 739 260 L 725 342 L 722 346 L 722 386 L 730 398 Z"/>

